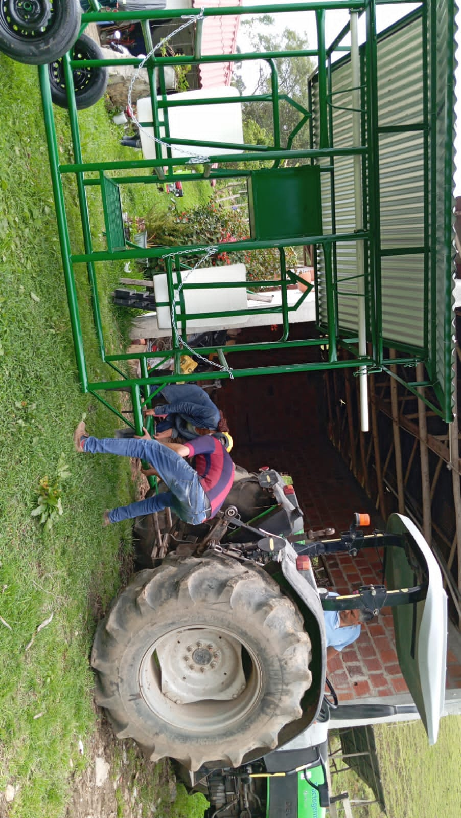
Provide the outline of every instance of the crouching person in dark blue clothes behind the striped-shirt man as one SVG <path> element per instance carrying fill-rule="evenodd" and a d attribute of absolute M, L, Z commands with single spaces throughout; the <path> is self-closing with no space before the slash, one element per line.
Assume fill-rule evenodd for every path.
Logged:
<path fill-rule="evenodd" d="M 194 440 L 200 434 L 210 432 L 228 432 L 226 418 L 208 393 L 196 384 L 167 384 L 159 393 L 166 400 L 154 409 L 148 409 L 145 415 L 161 418 L 156 424 L 155 438 L 181 437 Z"/>

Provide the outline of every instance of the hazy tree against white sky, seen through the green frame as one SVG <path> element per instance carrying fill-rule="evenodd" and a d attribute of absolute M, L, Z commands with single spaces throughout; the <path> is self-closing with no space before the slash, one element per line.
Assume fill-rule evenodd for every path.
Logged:
<path fill-rule="evenodd" d="M 271 16 L 253 17 L 243 24 L 244 30 L 251 43 L 254 52 L 290 52 L 300 51 L 308 47 L 307 34 L 298 34 L 293 29 L 284 29 L 281 35 L 274 34 L 269 29 L 273 25 L 274 19 Z M 263 27 L 262 27 L 263 26 Z M 264 94 L 270 93 L 272 88 L 271 67 L 266 61 L 258 61 L 257 79 L 253 83 L 253 88 L 248 89 L 241 73 L 235 75 L 235 86 L 240 92 Z M 278 74 L 279 94 L 287 95 L 291 100 L 297 102 L 304 109 L 308 110 L 307 79 L 314 69 L 312 61 L 308 57 L 285 56 L 275 60 Z M 242 63 L 237 67 L 242 71 Z M 248 80 L 247 80 L 248 82 Z M 302 112 L 293 107 L 288 101 L 280 100 L 280 139 L 281 146 L 287 146 L 289 135 L 302 120 Z M 274 133 L 274 119 L 270 102 L 247 102 L 243 106 L 244 128 L 251 129 L 250 123 L 253 121 L 258 128 L 266 133 Z M 271 141 L 273 137 L 271 136 Z M 253 143 L 254 144 L 254 143 Z M 305 123 L 300 132 L 293 139 L 293 147 L 309 146 L 309 126 Z"/>

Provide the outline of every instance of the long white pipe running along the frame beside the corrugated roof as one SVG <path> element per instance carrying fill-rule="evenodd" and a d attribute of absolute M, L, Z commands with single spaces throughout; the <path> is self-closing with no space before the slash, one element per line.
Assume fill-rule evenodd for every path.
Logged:
<path fill-rule="evenodd" d="M 359 36 L 357 31 L 357 21 L 359 15 L 357 11 L 351 11 L 351 79 L 352 79 L 352 146 L 361 145 L 360 137 L 360 54 Z M 353 157 L 354 160 L 354 205 L 356 214 L 356 230 L 363 230 L 364 213 L 362 203 L 362 173 L 360 155 Z M 359 321 L 359 355 L 366 355 L 366 313 L 365 313 L 365 259 L 364 243 L 356 242 L 356 264 L 357 264 L 357 295 L 358 295 L 358 321 Z M 360 425 L 362 432 L 368 432 L 368 378 L 366 366 L 359 367 L 360 378 Z"/>

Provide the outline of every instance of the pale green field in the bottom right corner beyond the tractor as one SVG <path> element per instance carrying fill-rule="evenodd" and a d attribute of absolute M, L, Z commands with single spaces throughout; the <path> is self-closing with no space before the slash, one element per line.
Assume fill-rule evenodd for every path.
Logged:
<path fill-rule="evenodd" d="M 434 747 L 427 744 L 421 721 L 378 725 L 374 737 L 387 818 L 459 818 L 461 716 L 441 719 Z M 339 791 L 349 798 L 374 798 L 353 772 L 333 776 L 333 793 Z M 377 804 L 353 810 L 354 818 L 385 818 Z"/>

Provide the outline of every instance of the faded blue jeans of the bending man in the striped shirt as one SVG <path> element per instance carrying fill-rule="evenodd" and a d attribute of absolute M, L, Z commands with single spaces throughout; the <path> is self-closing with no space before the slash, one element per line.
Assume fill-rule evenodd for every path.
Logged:
<path fill-rule="evenodd" d="M 199 525 L 210 510 L 208 497 L 201 486 L 199 475 L 183 457 L 163 446 L 157 440 L 130 438 L 87 438 L 83 452 L 139 457 L 148 461 L 158 471 L 169 491 L 155 497 L 147 497 L 129 506 L 119 506 L 109 512 L 111 523 L 161 511 L 167 506 L 185 523 Z"/>

